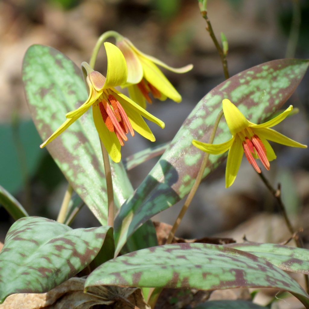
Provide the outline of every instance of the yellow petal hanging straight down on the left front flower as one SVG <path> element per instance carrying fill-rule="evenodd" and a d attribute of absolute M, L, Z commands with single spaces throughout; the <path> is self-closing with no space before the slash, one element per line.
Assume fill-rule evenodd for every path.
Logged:
<path fill-rule="evenodd" d="M 103 142 L 104 147 L 112 160 L 118 163 L 121 160 L 120 142 L 116 134 L 114 132 L 110 132 L 104 124 L 98 104 L 92 105 L 92 116 L 95 123 L 95 128 L 99 133 L 99 137 Z"/>

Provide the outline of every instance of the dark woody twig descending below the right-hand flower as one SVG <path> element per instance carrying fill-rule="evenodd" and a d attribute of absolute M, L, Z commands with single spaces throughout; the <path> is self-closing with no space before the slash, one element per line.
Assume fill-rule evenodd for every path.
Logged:
<path fill-rule="evenodd" d="M 295 243 L 296 243 L 296 246 L 298 248 L 303 248 L 303 241 L 301 238 L 299 238 L 299 235 L 298 235 L 298 232 L 295 231 L 287 213 L 286 213 L 286 208 L 282 202 L 282 199 L 281 199 L 281 186 L 280 184 L 278 184 L 278 188 L 277 190 L 275 188 L 273 188 L 273 186 L 269 183 L 269 181 L 266 179 L 266 177 L 264 176 L 264 174 L 262 172 L 260 173 L 257 173 L 259 176 L 260 176 L 260 179 L 264 182 L 265 186 L 269 189 L 269 192 L 273 195 L 273 197 L 276 199 L 278 205 L 279 205 L 279 208 L 281 210 L 281 213 L 283 215 L 283 218 L 284 218 L 284 221 L 286 222 L 286 226 L 289 230 L 289 232 L 291 233 L 292 235 L 292 238 L 294 239 Z M 306 290 L 307 290 L 307 293 L 309 293 L 309 278 L 308 278 L 308 275 L 304 275 L 305 277 L 305 284 L 306 284 Z"/>

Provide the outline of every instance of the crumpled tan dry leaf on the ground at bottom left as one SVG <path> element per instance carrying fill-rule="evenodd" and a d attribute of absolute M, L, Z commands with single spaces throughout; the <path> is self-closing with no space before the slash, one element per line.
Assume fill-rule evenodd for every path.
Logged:
<path fill-rule="evenodd" d="M 93 286 L 84 293 L 84 278 L 71 278 L 47 293 L 10 295 L 0 309 L 90 309 L 109 305 L 106 309 L 150 309 L 138 288 Z"/>

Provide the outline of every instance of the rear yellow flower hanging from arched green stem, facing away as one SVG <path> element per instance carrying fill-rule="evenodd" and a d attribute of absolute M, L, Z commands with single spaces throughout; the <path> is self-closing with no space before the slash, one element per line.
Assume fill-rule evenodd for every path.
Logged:
<path fill-rule="evenodd" d="M 128 79 L 125 86 L 128 87 L 131 99 L 143 108 L 146 108 L 146 101 L 152 103 L 150 94 L 162 101 L 170 98 L 176 102 L 181 101 L 181 95 L 165 77 L 162 71 L 156 66 L 175 73 L 185 73 L 193 68 L 192 64 L 176 69 L 166 65 L 155 57 L 146 55 L 138 50 L 132 42 L 117 33 L 116 45 L 125 56 L 128 66 Z"/>

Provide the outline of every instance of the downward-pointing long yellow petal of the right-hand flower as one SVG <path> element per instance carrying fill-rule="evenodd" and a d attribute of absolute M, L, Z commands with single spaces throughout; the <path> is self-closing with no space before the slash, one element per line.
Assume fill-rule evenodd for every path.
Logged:
<path fill-rule="evenodd" d="M 225 171 L 225 187 L 230 187 L 236 179 L 237 172 L 243 159 L 243 145 L 240 138 L 235 137 L 234 142 L 227 155 Z"/>

